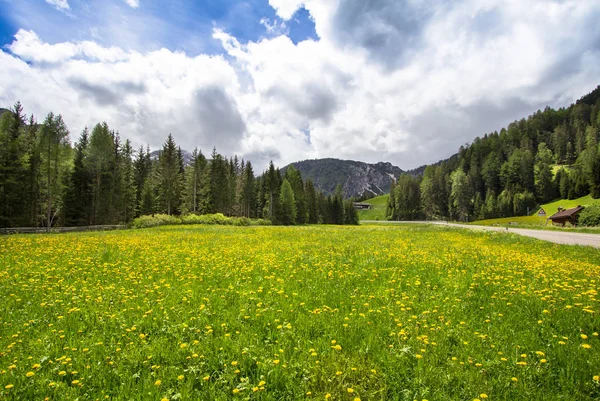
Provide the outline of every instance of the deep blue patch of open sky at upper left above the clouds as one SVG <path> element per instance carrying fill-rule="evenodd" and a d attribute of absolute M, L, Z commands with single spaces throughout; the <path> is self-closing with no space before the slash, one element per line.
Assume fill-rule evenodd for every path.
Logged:
<path fill-rule="evenodd" d="M 272 36 L 261 20 L 281 23 L 268 0 L 142 0 L 132 8 L 123 0 L 69 0 L 61 10 L 45 0 L 0 0 L 0 45 L 19 29 L 33 30 L 47 43 L 94 40 L 104 46 L 150 51 L 165 47 L 190 55 L 222 53 L 212 39 L 219 27 L 241 42 Z M 309 13 L 299 9 L 286 22 L 294 43 L 316 39 Z"/>

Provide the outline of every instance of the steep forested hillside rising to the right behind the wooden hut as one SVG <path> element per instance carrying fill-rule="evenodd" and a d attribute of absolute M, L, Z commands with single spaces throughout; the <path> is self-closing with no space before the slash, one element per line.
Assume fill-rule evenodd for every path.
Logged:
<path fill-rule="evenodd" d="M 391 190 L 390 219 L 475 220 L 525 215 L 555 198 L 600 197 L 600 86 L 567 108 L 476 138 Z"/>

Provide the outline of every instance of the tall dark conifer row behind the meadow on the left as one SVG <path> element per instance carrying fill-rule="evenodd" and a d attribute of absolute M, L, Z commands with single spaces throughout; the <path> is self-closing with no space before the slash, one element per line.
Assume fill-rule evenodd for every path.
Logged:
<path fill-rule="evenodd" d="M 137 150 L 100 123 L 74 146 L 60 115 L 42 123 L 22 105 L 0 116 L 0 227 L 127 224 L 142 215 L 212 214 L 263 218 L 273 224 L 357 224 L 341 188 L 325 196 L 292 166 L 273 163 L 255 176 L 250 161 L 191 160 L 171 134 L 159 152 Z"/>

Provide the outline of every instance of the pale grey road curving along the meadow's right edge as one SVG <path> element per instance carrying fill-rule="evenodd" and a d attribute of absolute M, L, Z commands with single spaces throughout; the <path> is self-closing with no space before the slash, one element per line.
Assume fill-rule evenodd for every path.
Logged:
<path fill-rule="evenodd" d="M 471 230 L 483 230 L 483 231 L 501 231 L 509 232 L 518 235 L 524 235 L 526 237 L 532 237 L 541 239 L 543 241 L 550 241 L 557 244 L 566 245 L 585 245 L 600 248 L 600 234 L 586 234 L 586 233 L 571 233 L 566 231 L 552 231 L 552 230 L 529 230 L 525 228 L 506 228 L 506 227 L 490 227 L 490 226 L 476 226 L 466 224 L 455 224 L 446 222 L 432 222 L 432 221 L 370 221 L 365 220 L 361 223 L 386 223 L 386 224 L 435 224 L 446 227 L 458 227 L 468 228 Z"/>

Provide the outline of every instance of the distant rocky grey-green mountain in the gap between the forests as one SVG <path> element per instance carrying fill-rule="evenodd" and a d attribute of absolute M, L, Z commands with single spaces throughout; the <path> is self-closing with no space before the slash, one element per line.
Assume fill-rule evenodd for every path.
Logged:
<path fill-rule="evenodd" d="M 324 194 L 332 194 L 342 185 L 344 196 L 361 196 L 365 192 L 383 195 L 390 191 L 392 178 L 397 179 L 402 170 L 391 163 L 368 164 L 353 160 L 314 159 L 291 164 L 302 178 L 310 179 Z M 285 174 L 288 166 L 281 169 Z"/>

